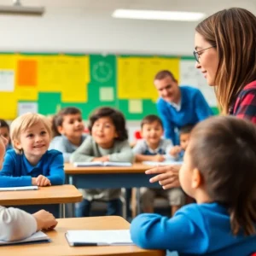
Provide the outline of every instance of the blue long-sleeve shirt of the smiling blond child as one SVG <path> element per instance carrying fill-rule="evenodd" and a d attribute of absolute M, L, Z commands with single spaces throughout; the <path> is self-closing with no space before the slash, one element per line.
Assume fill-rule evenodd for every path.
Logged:
<path fill-rule="evenodd" d="M 31 186 L 32 177 L 38 177 L 40 174 L 49 178 L 52 185 L 64 183 L 64 160 L 61 152 L 48 150 L 38 165 L 32 166 L 24 154 L 17 154 L 14 149 L 10 149 L 5 154 L 3 169 L 0 172 L 0 187 Z"/>

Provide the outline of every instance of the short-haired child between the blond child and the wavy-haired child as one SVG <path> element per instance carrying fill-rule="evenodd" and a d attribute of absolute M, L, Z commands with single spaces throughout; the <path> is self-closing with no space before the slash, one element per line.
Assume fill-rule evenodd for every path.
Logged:
<path fill-rule="evenodd" d="M 55 137 L 49 149 L 62 152 L 64 161 L 69 162 L 71 154 L 84 143 L 84 123 L 79 108 L 62 108 L 52 120 Z"/>

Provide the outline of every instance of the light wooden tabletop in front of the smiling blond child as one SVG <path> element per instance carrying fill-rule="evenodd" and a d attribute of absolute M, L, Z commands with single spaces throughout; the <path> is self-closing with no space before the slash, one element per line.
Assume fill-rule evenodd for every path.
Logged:
<path fill-rule="evenodd" d="M 82 199 L 82 194 L 73 185 L 38 187 L 38 190 L 0 192 L 0 205 L 5 207 L 74 203 L 82 201 Z"/>

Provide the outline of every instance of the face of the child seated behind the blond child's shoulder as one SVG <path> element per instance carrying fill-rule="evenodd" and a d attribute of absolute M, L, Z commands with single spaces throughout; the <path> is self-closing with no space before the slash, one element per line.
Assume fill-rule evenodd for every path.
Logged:
<path fill-rule="evenodd" d="M 61 134 L 67 137 L 82 137 L 84 123 L 80 113 L 67 114 L 63 117 L 62 126 L 58 127 Z"/>

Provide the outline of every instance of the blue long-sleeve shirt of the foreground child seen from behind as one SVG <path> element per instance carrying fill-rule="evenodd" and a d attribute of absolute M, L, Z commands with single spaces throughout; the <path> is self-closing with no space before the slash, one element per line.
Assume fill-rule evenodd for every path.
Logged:
<path fill-rule="evenodd" d="M 131 222 L 139 247 L 177 251 L 178 255 L 241 256 L 256 252 L 256 234 L 233 236 L 230 215 L 218 203 L 189 204 L 166 218 L 144 213 Z"/>

